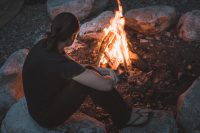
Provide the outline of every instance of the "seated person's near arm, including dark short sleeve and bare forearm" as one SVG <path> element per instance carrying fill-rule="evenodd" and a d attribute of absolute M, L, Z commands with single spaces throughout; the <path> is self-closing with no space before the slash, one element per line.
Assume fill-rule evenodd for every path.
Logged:
<path fill-rule="evenodd" d="M 66 59 L 63 65 L 61 65 L 62 68 L 59 69 L 66 79 L 72 78 L 82 85 L 100 91 L 109 91 L 113 89 L 114 82 L 111 78 L 100 75 L 97 71 L 95 72 L 94 70 L 84 68 L 70 58 Z"/>

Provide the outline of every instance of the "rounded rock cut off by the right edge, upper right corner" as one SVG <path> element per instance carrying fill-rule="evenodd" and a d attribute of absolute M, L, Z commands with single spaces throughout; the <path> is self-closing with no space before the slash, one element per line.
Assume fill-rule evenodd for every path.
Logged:
<path fill-rule="evenodd" d="M 200 41 L 200 10 L 184 14 L 178 23 L 178 35 L 185 41 Z"/>

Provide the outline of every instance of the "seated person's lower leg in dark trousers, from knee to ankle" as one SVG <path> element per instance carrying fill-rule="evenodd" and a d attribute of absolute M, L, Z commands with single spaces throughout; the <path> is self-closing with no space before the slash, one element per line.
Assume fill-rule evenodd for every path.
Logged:
<path fill-rule="evenodd" d="M 89 88 L 89 95 L 97 105 L 107 111 L 118 128 L 123 128 L 130 120 L 132 109 L 113 88 L 111 91 L 97 91 Z"/>

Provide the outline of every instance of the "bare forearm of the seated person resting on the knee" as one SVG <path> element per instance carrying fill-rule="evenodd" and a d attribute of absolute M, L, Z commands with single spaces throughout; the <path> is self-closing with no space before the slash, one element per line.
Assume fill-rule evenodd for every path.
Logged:
<path fill-rule="evenodd" d="M 114 87 L 113 80 L 103 77 L 93 70 L 86 69 L 83 73 L 73 77 L 73 80 L 100 91 L 110 91 Z"/>

